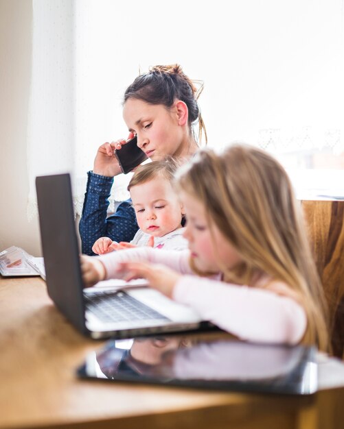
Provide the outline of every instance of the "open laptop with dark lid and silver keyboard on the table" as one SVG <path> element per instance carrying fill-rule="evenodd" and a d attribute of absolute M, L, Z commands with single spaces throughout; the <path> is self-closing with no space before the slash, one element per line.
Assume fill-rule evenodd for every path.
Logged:
<path fill-rule="evenodd" d="M 36 193 L 47 293 L 82 334 L 104 339 L 211 328 L 192 308 L 147 286 L 84 289 L 69 173 L 36 177 Z"/>

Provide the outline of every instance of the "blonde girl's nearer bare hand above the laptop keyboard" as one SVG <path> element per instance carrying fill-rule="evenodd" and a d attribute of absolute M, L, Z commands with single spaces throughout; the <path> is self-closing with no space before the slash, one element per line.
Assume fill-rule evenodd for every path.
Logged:
<path fill-rule="evenodd" d="M 172 298 L 174 286 L 181 278 L 181 274 L 165 265 L 146 262 L 120 262 L 117 271 L 127 282 L 135 278 L 145 278 L 150 287 L 169 298 Z"/>

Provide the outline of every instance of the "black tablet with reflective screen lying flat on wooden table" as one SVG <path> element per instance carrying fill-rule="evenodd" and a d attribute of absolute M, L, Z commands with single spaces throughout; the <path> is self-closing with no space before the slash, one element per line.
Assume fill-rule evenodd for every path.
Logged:
<path fill-rule="evenodd" d="M 82 378 L 227 391 L 310 395 L 317 391 L 314 347 L 232 339 L 150 336 L 112 340 L 78 369 Z"/>

